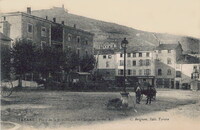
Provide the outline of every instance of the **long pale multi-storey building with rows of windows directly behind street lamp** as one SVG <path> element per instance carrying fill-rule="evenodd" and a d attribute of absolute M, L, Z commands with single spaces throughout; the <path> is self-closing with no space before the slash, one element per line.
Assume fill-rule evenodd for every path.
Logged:
<path fill-rule="evenodd" d="M 116 53 L 116 76 L 122 77 L 124 73 L 124 53 Z M 127 49 L 126 76 L 130 82 L 142 83 L 144 80 L 151 85 L 155 84 L 154 53 L 151 48 L 134 47 Z"/>

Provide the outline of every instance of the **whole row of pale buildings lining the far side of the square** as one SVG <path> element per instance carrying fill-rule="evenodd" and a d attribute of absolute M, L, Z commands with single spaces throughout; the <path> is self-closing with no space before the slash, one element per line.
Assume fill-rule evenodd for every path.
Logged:
<path fill-rule="evenodd" d="M 178 44 L 159 44 L 151 47 L 128 47 L 126 76 L 133 83 L 148 81 L 158 88 L 188 89 L 194 80 L 194 68 L 198 68 L 197 57 L 182 54 Z M 123 81 L 123 49 L 96 50 L 97 70 L 105 79 Z M 197 78 L 199 80 L 199 77 Z"/>

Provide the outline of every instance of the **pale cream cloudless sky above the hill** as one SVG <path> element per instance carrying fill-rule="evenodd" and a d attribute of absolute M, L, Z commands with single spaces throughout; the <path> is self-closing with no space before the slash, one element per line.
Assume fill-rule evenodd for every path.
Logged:
<path fill-rule="evenodd" d="M 200 38 L 200 0 L 0 0 L 0 12 L 48 9 L 135 29 Z"/>

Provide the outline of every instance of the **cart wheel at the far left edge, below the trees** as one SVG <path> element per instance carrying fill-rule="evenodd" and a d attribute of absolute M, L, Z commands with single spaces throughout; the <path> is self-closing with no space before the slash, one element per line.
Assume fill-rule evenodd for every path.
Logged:
<path fill-rule="evenodd" d="M 1 96 L 9 97 L 13 91 L 13 84 L 10 80 L 1 81 Z"/>

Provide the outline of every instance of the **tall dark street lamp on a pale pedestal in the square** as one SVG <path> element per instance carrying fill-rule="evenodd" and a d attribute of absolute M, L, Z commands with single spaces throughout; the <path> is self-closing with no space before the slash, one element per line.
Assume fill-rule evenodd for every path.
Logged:
<path fill-rule="evenodd" d="M 121 93 L 122 96 L 122 104 L 125 107 L 128 107 L 128 95 L 129 93 L 126 92 L 126 48 L 127 48 L 128 41 L 126 38 L 122 40 L 121 47 L 124 49 L 124 86 L 123 90 L 124 92 Z"/>

